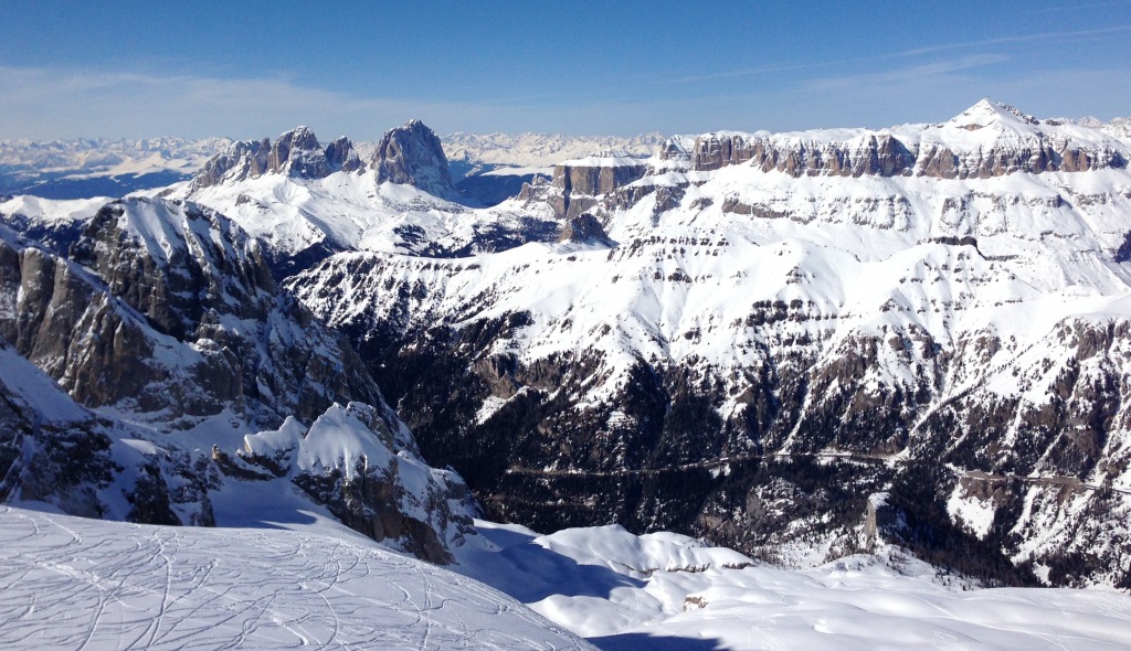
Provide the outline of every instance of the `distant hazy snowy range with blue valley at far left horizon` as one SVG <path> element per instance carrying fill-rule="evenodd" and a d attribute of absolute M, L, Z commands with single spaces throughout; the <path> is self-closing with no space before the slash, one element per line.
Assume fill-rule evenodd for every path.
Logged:
<path fill-rule="evenodd" d="M 189 177 L 227 138 L 0 140 L 0 192 L 49 199 L 121 197 Z"/>

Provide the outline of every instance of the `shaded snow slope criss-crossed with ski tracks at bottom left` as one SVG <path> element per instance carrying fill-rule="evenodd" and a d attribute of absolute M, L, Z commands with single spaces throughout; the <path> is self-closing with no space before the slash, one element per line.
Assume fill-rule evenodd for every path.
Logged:
<path fill-rule="evenodd" d="M 0 648 L 592 649 L 521 604 L 360 539 L 0 506 Z"/>

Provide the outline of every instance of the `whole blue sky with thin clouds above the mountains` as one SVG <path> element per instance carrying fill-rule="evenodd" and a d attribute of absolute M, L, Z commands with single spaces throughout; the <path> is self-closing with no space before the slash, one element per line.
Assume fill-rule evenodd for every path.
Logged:
<path fill-rule="evenodd" d="M 1131 0 L 0 0 L 0 138 L 886 127 L 984 96 L 1131 115 Z"/>

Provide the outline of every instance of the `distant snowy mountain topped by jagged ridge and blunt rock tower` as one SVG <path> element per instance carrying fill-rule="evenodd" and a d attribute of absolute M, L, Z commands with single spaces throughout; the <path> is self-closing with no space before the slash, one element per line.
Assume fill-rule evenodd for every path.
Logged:
<path fill-rule="evenodd" d="M 301 142 L 287 156 L 303 163 L 284 164 L 280 142 Z M 418 121 L 389 130 L 368 163 L 349 140 L 323 148 L 305 128 L 275 145 L 236 142 L 161 194 L 231 217 L 266 244 L 279 275 L 338 251 L 466 255 L 552 241 L 559 231 L 549 208 L 461 203 L 439 139 Z"/>

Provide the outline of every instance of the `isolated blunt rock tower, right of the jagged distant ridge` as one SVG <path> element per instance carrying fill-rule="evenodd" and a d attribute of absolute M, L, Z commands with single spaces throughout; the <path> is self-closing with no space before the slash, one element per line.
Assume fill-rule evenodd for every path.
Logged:
<path fill-rule="evenodd" d="M 385 133 L 373 154 L 378 183 L 413 185 L 435 197 L 456 197 L 440 138 L 420 120 Z"/>

